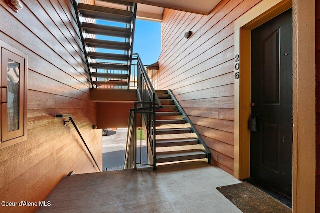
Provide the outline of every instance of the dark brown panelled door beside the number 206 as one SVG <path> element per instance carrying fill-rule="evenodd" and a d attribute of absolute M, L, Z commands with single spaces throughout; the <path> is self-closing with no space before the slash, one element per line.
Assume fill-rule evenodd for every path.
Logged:
<path fill-rule="evenodd" d="M 251 33 L 251 178 L 292 197 L 292 10 Z"/>

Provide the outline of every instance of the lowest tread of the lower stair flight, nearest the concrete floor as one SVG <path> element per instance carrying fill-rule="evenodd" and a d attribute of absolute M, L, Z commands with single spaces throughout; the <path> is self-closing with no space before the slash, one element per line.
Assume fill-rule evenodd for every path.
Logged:
<path fill-rule="evenodd" d="M 202 158 L 206 158 L 206 154 L 203 151 L 198 149 L 167 151 L 167 152 L 156 153 L 157 163 L 202 159 Z"/>

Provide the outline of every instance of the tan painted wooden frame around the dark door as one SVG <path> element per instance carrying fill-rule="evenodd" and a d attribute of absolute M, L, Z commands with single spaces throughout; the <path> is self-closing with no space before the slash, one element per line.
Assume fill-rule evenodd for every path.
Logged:
<path fill-rule="evenodd" d="M 234 61 L 239 76 L 234 81 L 234 177 L 250 177 L 251 30 L 292 7 L 293 212 L 314 212 L 315 36 L 310 39 L 315 35 L 315 12 L 310 12 L 315 11 L 314 0 L 262 0 L 234 23 L 234 55 L 239 55 Z"/>

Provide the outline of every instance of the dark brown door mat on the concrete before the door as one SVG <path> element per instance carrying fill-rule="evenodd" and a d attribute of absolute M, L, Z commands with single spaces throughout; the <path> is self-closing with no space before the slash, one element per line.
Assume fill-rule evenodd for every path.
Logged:
<path fill-rule="evenodd" d="M 216 189 L 244 213 L 292 212 L 291 208 L 247 182 L 217 187 Z"/>

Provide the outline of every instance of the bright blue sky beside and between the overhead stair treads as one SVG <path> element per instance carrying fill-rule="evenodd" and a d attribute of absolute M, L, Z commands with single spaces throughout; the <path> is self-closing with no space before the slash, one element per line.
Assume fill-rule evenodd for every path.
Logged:
<path fill-rule="evenodd" d="M 125 24 L 97 20 L 98 24 L 124 27 Z M 103 37 L 113 41 L 124 41 L 124 38 L 116 38 L 98 35 L 98 39 Z M 99 49 L 99 52 L 119 53 L 118 50 Z M 133 53 L 138 53 L 143 65 L 150 65 L 158 61 L 161 53 L 161 23 L 146 20 L 136 20 Z"/>

